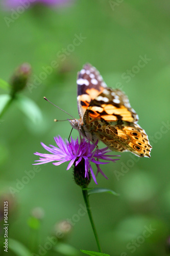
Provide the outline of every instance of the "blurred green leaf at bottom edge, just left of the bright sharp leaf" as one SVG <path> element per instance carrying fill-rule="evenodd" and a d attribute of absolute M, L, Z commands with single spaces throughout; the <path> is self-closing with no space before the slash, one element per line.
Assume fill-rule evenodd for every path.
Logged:
<path fill-rule="evenodd" d="M 55 247 L 54 250 L 58 253 L 61 253 L 65 256 L 79 256 L 80 252 L 75 248 L 72 247 L 69 244 L 65 243 L 58 243 Z"/>

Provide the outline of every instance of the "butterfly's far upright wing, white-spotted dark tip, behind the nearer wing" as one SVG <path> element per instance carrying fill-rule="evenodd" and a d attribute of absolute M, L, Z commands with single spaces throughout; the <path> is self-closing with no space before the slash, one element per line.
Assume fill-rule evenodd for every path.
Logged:
<path fill-rule="evenodd" d="M 83 120 L 84 113 L 86 112 L 90 102 L 107 86 L 99 71 L 90 64 L 84 65 L 83 69 L 78 73 L 77 86 L 78 111 L 80 118 Z"/>

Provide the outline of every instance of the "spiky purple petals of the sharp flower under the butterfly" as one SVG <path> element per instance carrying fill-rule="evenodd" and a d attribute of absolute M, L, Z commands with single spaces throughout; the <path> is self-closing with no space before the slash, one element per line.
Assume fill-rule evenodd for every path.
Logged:
<path fill-rule="evenodd" d="M 70 167 L 75 164 L 77 166 L 80 162 L 84 162 L 85 166 L 85 178 L 88 178 L 88 171 L 90 169 L 91 176 L 96 184 L 96 178 L 93 173 L 93 169 L 91 167 L 91 162 L 95 163 L 97 167 L 97 173 L 101 173 L 106 179 L 106 175 L 102 172 L 102 169 L 100 168 L 100 164 L 107 164 L 109 162 L 100 162 L 99 160 L 106 160 L 106 161 L 116 161 L 119 159 L 112 159 L 111 157 L 117 157 L 117 156 L 111 156 L 107 155 L 110 150 L 108 150 L 108 147 L 102 148 L 101 150 L 95 148 L 95 145 L 91 144 L 88 140 L 85 138 L 82 139 L 82 141 L 79 143 L 79 140 L 72 139 L 69 143 L 67 140 L 63 140 L 60 136 L 55 137 L 55 142 L 58 147 L 50 145 L 46 146 L 44 143 L 41 142 L 41 145 L 47 150 L 48 152 L 52 154 L 41 154 L 41 153 L 34 153 L 35 155 L 39 156 L 40 159 L 36 160 L 35 164 L 43 164 L 43 163 L 49 163 L 53 162 L 54 165 L 60 165 L 64 162 L 70 161 L 67 170 L 70 169 Z M 82 161 L 84 160 L 84 161 Z"/>

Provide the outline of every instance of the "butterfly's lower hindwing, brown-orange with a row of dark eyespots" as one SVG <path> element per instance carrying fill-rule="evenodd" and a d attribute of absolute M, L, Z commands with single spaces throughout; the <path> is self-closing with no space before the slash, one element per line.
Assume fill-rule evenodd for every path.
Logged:
<path fill-rule="evenodd" d="M 150 157 L 151 145 L 145 131 L 135 123 L 95 120 L 89 124 L 90 133 L 112 151 L 131 151 L 137 156 Z"/>

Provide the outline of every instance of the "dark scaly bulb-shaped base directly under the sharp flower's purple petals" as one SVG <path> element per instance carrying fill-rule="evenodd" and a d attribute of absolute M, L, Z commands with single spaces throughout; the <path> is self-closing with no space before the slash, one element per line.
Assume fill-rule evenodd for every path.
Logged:
<path fill-rule="evenodd" d="M 74 179 L 77 185 L 85 188 L 91 181 L 91 175 L 88 173 L 89 177 L 85 178 L 85 160 L 82 158 L 81 162 L 74 166 Z"/>

